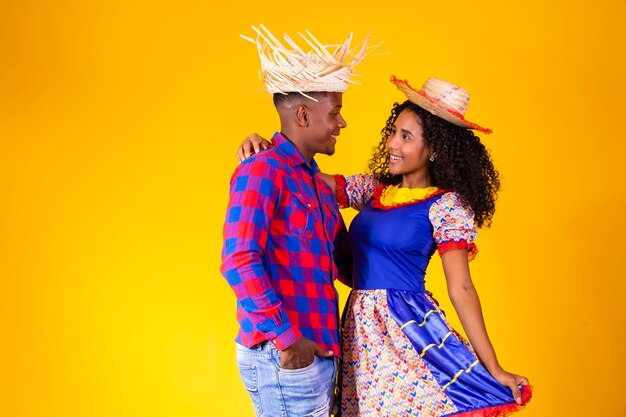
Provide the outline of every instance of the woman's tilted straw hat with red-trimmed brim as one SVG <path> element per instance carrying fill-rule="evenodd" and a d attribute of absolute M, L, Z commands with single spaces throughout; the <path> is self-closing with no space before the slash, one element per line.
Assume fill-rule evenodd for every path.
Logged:
<path fill-rule="evenodd" d="M 395 75 L 391 76 L 391 82 L 411 102 L 435 116 L 467 129 L 479 130 L 486 134 L 492 132 L 491 129 L 480 127 L 465 119 L 465 112 L 469 106 L 469 93 L 458 85 L 439 78 L 429 78 L 421 89 L 416 90 L 406 80 L 399 80 Z"/>

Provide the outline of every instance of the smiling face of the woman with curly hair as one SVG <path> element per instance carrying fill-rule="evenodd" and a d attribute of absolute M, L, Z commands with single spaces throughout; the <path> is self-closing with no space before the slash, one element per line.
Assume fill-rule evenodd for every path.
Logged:
<path fill-rule="evenodd" d="M 389 172 L 402 175 L 403 186 L 425 187 L 428 181 L 430 149 L 422 134 L 421 120 L 412 111 L 403 110 L 387 138 Z M 417 182 L 417 183 L 416 183 Z"/>

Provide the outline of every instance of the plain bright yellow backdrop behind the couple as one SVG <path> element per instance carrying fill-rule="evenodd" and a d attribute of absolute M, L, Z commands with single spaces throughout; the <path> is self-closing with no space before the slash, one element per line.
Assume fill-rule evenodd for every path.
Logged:
<path fill-rule="evenodd" d="M 0 2 L 1 416 L 251 415 L 219 264 L 235 149 L 278 129 L 258 23 L 385 40 L 326 172 L 364 169 L 391 74 L 471 92 L 503 183 L 472 271 L 520 415 L 626 415 L 624 1 L 211 3 Z"/>

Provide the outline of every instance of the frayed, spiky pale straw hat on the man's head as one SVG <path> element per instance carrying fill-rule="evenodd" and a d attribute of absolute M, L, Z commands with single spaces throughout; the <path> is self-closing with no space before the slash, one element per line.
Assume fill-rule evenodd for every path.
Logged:
<path fill-rule="evenodd" d="M 322 45 L 305 30 L 306 36 L 298 33 L 310 47 L 310 51 L 305 52 L 288 35 L 284 35 L 284 45 L 265 26 L 252 26 L 252 29 L 257 34 L 256 39 L 240 36 L 257 45 L 262 78 L 271 94 L 343 93 L 348 83 L 356 83 L 351 79 L 355 75 L 353 69 L 363 61 L 368 49 L 369 36 L 359 47 L 351 49 L 352 33 L 342 44 Z"/>

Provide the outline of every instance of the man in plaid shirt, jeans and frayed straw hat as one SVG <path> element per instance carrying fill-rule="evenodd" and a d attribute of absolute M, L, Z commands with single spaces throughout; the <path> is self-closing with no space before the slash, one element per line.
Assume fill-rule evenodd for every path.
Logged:
<path fill-rule="evenodd" d="M 350 36 L 330 53 L 307 32 L 315 46 L 305 53 L 286 35 L 293 49 L 253 29 L 256 40 L 246 39 L 258 47 L 281 130 L 231 179 L 221 271 L 237 297 L 237 363 L 257 415 L 329 415 L 340 355 L 333 281 L 349 255 L 314 156 L 335 152 L 342 94 L 367 41 L 353 54 Z"/>

